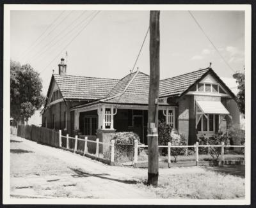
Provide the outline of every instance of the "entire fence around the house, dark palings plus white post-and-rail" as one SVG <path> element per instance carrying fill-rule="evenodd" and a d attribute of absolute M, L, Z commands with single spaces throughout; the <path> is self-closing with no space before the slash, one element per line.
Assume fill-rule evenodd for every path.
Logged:
<path fill-rule="evenodd" d="M 78 138 L 76 137 L 70 137 L 68 134 L 67 135 L 62 135 L 61 130 L 56 131 L 56 130 L 51 130 L 48 128 L 44 127 L 39 127 L 39 126 L 29 126 L 29 125 L 19 125 L 18 128 L 15 128 L 11 126 L 10 132 L 13 135 L 17 135 L 19 137 L 23 137 L 29 140 L 33 140 L 35 142 L 41 143 L 41 144 L 47 144 L 51 145 L 53 147 L 58 147 L 58 148 L 65 148 L 68 149 L 69 151 L 76 152 L 83 154 L 84 156 L 93 156 L 95 158 L 99 158 L 102 156 L 100 152 L 104 152 L 104 145 L 106 145 L 108 148 L 110 147 L 110 155 L 109 158 L 106 159 L 110 162 L 110 164 L 115 163 L 115 145 L 133 145 L 133 161 L 132 164 L 138 163 L 138 150 L 140 148 L 147 148 L 148 145 L 138 145 L 138 140 L 134 140 L 133 144 L 115 144 L 115 140 L 111 140 L 110 144 L 109 143 L 104 143 L 100 142 L 99 138 L 96 138 L 95 140 L 88 139 L 88 137 L 84 138 Z M 223 142 L 221 145 L 199 145 L 198 142 L 194 145 L 172 145 L 170 142 L 168 142 L 168 145 L 159 145 L 159 148 L 167 148 L 167 154 L 168 154 L 168 159 L 167 162 L 170 164 L 171 161 L 171 156 L 172 156 L 172 149 L 174 148 L 193 148 L 195 150 L 195 161 L 196 165 L 199 161 L 199 149 L 202 147 L 219 147 L 221 148 L 221 161 L 225 161 L 225 152 L 224 149 L 225 147 L 245 147 L 244 145 L 225 145 Z M 117 151 L 117 150 L 116 150 Z M 132 154 L 133 155 L 133 154 Z M 102 158 L 101 158 L 102 159 Z"/>

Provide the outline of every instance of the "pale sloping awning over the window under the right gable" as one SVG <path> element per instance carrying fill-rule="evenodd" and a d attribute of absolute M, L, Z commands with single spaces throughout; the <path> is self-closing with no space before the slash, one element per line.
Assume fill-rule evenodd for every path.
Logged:
<path fill-rule="evenodd" d="M 202 110 L 203 114 L 230 114 L 221 101 L 198 101 L 196 105 Z"/>

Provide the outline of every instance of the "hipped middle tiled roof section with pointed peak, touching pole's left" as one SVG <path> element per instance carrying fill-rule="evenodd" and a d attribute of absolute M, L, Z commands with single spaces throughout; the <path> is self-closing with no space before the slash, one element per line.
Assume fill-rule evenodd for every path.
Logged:
<path fill-rule="evenodd" d="M 129 78 L 128 78 L 129 77 Z M 132 80 L 133 78 L 133 80 Z M 131 83 L 129 83 L 131 81 Z M 125 86 L 127 86 L 125 89 Z M 137 71 L 124 77 L 111 90 L 107 98 L 102 99 L 109 103 L 131 103 L 147 104 L 148 103 L 149 76 Z M 124 91 L 125 90 L 125 91 Z"/>

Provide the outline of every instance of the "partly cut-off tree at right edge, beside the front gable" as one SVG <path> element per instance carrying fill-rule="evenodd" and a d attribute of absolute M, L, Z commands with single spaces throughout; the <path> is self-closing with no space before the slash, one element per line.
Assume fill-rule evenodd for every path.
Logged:
<path fill-rule="evenodd" d="M 244 86 L 244 80 L 245 80 L 245 75 L 244 72 L 241 73 L 235 73 L 233 75 L 234 78 L 236 78 L 236 82 L 238 83 L 238 90 L 239 92 L 237 93 L 237 99 L 238 99 L 238 107 L 239 110 L 242 114 L 244 114 L 245 107 L 244 107 L 244 102 L 245 102 L 245 86 Z"/>

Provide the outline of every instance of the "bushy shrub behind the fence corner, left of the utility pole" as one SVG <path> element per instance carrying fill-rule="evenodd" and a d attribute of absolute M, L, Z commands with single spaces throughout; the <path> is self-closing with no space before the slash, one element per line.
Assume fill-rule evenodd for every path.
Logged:
<path fill-rule="evenodd" d="M 134 152 L 134 140 L 138 140 L 140 144 L 138 135 L 133 132 L 116 132 L 112 139 L 115 140 L 115 161 L 117 163 L 131 161 Z M 104 152 L 104 158 L 110 159 L 110 152 L 111 147 L 109 147 L 108 151 Z"/>

